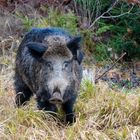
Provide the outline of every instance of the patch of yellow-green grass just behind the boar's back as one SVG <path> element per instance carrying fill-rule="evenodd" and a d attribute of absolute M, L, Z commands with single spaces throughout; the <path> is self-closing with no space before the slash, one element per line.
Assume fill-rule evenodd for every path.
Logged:
<path fill-rule="evenodd" d="M 77 34 L 77 17 L 72 11 L 63 13 L 58 9 L 48 8 L 47 13 L 47 17 L 41 15 L 29 17 L 17 11 L 14 17 L 20 20 L 25 31 L 29 31 L 33 27 L 46 28 L 51 26 L 67 29 L 73 35 Z"/>

